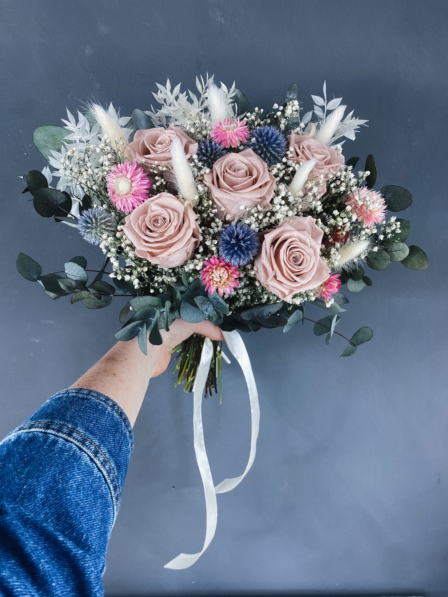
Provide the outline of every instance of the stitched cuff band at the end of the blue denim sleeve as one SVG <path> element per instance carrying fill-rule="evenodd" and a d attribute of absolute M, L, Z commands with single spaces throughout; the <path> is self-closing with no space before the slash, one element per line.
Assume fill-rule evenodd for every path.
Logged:
<path fill-rule="evenodd" d="M 96 464 L 111 492 L 114 519 L 134 447 L 122 408 L 96 390 L 72 387 L 58 392 L 10 434 L 50 433 L 76 445 Z"/>

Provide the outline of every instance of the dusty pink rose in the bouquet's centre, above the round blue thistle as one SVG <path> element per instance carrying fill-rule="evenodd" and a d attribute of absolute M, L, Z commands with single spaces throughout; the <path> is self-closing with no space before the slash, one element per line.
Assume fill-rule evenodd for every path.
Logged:
<path fill-rule="evenodd" d="M 204 175 L 204 181 L 222 220 L 228 215 L 234 219 L 241 214 L 240 205 L 269 207 L 274 195 L 274 176 L 251 149 L 217 159 L 213 170 Z"/>

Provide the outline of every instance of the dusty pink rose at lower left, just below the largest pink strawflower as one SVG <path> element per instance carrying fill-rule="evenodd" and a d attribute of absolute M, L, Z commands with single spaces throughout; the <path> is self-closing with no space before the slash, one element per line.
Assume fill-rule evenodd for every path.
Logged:
<path fill-rule="evenodd" d="M 196 214 L 183 199 L 165 192 L 136 207 L 123 231 L 139 257 L 162 267 L 182 265 L 199 245 Z"/>

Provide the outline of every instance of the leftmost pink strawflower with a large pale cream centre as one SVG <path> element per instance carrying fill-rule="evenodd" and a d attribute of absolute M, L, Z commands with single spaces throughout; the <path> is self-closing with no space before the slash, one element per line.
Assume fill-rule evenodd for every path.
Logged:
<path fill-rule="evenodd" d="M 109 171 L 106 180 L 113 205 L 124 213 L 130 213 L 148 199 L 151 183 L 138 164 L 118 164 Z"/>

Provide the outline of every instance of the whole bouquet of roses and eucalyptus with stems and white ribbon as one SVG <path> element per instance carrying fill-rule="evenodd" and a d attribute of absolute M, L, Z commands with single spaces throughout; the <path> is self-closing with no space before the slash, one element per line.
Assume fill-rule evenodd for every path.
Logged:
<path fill-rule="evenodd" d="M 244 94 L 213 76 L 196 79 L 197 92 L 157 85 L 159 107 L 120 116 L 112 103 L 67 109 L 63 127 L 43 126 L 33 140 L 50 167 L 23 177 L 40 216 L 53 217 L 99 245 L 105 259 L 87 269 L 73 257 L 61 272 L 42 275 L 39 264 L 20 253 L 17 269 L 38 281 L 53 299 L 70 296 L 87 309 L 129 297 L 121 309 L 118 340 L 147 337 L 162 343 L 161 329 L 176 318 L 207 319 L 223 331 L 243 367 L 251 402 L 251 450 L 243 475 L 213 486 L 205 454 L 200 399 L 217 391 L 220 343 L 192 336 L 177 347 L 177 383 L 195 390 L 195 450 L 207 503 L 207 533 L 198 554 L 167 564 L 185 568 L 203 553 L 216 528 L 216 493 L 229 491 L 253 462 L 259 407 L 247 353 L 235 330 L 314 323 L 314 334 L 333 334 L 353 355 L 373 332 L 361 327 L 350 337 L 335 328 L 348 298 L 372 285 L 364 267 L 384 270 L 401 261 L 425 269 L 424 251 L 406 243 L 409 221 L 388 216 L 412 202 L 409 191 L 380 191 L 376 166 L 367 156 L 345 159 L 343 143 L 367 121 L 346 113 L 342 98 L 311 96 L 303 113 L 297 85 L 272 109 L 251 109 Z M 108 266 L 110 272 L 106 272 Z M 93 275 L 91 274 L 93 272 Z M 61 275 L 63 274 L 63 275 Z M 105 276 L 108 276 L 108 281 Z M 315 321 L 308 305 L 328 313 Z M 236 336 L 235 336 L 236 334 Z M 235 339 L 236 338 L 236 339 Z M 214 528 L 213 528 L 214 527 Z"/>

